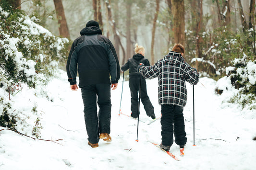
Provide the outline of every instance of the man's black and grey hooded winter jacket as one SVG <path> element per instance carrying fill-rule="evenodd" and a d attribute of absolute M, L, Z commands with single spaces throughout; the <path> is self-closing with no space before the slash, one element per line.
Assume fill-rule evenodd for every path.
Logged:
<path fill-rule="evenodd" d="M 70 84 L 76 84 L 79 74 L 79 86 L 86 84 L 117 83 L 120 78 L 120 66 L 114 46 L 101 34 L 96 26 L 85 27 L 81 36 L 72 44 L 67 74 Z"/>

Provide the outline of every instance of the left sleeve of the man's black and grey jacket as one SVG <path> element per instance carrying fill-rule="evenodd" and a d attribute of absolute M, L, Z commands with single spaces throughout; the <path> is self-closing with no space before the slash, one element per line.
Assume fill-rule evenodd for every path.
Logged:
<path fill-rule="evenodd" d="M 77 75 L 77 52 L 75 42 L 73 42 L 72 47 L 70 49 L 68 61 L 67 61 L 67 75 L 68 81 L 71 85 L 76 84 L 76 75 Z"/>

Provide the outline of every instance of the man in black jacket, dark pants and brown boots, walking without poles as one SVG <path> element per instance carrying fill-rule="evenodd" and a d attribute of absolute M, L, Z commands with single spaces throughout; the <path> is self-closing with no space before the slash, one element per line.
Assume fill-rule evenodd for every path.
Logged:
<path fill-rule="evenodd" d="M 80 34 L 81 36 L 72 44 L 66 69 L 73 91 L 78 89 L 76 85 L 78 71 L 88 145 L 98 147 L 99 138 L 111 141 L 110 84 L 113 90 L 117 88 L 120 66 L 113 45 L 107 37 L 102 35 L 98 22 L 93 20 L 87 22 Z"/>

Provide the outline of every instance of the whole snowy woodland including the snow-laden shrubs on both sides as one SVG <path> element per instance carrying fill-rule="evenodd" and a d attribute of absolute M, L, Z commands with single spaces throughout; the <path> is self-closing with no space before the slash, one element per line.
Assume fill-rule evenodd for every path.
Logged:
<path fill-rule="evenodd" d="M 201 77 L 226 77 L 239 91 L 228 102 L 256 109 L 255 19 L 255 0 L 0 0 L 0 126 L 13 130 L 31 119 L 12 107 L 12 98 L 24 84 L 40 87 L 57 68 L 65 70 L 70 46 L 89 20 L 98 21 L 121 66 L 135 43 L 146 48 L 151 65 L 181 43 Z M 37 105 L 29 107 L 38 137 Z"/>

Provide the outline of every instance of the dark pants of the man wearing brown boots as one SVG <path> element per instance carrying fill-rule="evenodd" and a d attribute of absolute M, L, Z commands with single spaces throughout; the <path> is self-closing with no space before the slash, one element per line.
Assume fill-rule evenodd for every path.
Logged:
<path fill-rule="evenodd" d="M 85 85 L 81 87 L 81 92 L 84 102 L 85 126 L 88 141 L 96 144 L 99 141 L 99 133 L 110 134 L 110 84 Z M 99 107 L 98 113 L 97 102 Z"/>

